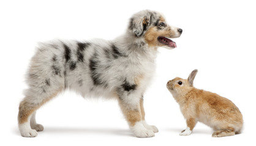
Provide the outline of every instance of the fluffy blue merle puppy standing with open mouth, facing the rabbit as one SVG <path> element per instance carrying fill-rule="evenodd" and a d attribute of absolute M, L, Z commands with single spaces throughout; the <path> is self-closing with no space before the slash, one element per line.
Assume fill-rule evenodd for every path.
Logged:
<path fill-rule="evenodd" d="M 66 89 L 83 97 L 116 98 L 134 135 L 154 136 L 158 130 L 145 121 L 143 94 L 155 70 L 157 47 L 175 48 L 169 38 L 182 31 L 169 26 L 160 13 L 143 10 L 130 18 L 126 33 L 115 40 L 39 44 L 18 112 L 21 136 L 35 137 L 43 130 L 36 123 L 36 110 Z"/>

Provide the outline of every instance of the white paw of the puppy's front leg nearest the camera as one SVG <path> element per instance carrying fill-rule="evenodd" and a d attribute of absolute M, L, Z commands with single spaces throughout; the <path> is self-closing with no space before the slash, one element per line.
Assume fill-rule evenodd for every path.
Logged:
<path fill-rule="evenodd" d="M 143 126 L 143 123 L 141 121 L 135 123 L 134 127 L 131 127 L 131 130 L 137 137 L 153 137 L 153 136 L 155 136 L 154 131 L 146 129 Z"/>

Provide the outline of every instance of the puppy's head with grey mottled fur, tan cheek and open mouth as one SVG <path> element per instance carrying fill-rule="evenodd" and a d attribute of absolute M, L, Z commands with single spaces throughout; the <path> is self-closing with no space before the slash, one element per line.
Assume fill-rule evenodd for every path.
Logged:
<path fill-rule="evenodd" d="M 170 38 L 178 38 L 183 32 L 182 29 L 169 26 L 163 15 L 151 10 L 135 13 L 130 19 L 128 29 L 135 37 L 143 37 L 149 47 L 166 47 L 167 49 L 177 47 Z"/>

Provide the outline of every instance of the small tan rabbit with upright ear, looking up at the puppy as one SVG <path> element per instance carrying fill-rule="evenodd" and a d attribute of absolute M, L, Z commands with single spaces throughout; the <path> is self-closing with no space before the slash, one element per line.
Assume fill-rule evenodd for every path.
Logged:
<path fill-rule="evenodd" d="M 215 130 L 213 137 L 241 133 L 243 116 L 236 105 L 213 92 L 194 88 L 196 74 L 197 69 L 191 72 L 187 80 L 176 77 L 167 83 L 168 90 L 179 103 L 187 122 L 186 130 L 181 131 L 179 135 L 190 135 L 198 121 Z"/>

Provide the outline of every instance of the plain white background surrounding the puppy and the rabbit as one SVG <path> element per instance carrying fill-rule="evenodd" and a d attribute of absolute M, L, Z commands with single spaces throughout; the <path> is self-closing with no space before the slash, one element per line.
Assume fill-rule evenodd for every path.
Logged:
<path fill-rule="evenodd" d="M 125 32 L 140 10 L 156 10 L 183 29 L 177 48 L 159 48 L 157 70 L 145 93 L 146 120 L 155 137 L 134 137 L 115 100 L 83 99 L 64 92 L 37 112 L 45 130 L 36 138 L 20 136 L 18 105 L 24 74 L 39 41 L 56 38 L 111 40 Z M 241 145 L 255 137 L 255 4 L 253 1 L 1 1 L 0 145 Z M 232 100 L 244 116 L 242 134 L 213 138 L 198 123 L 179 136 L 186 122 L 165 87 L 174 77 L 198 69 L 194 85 Z"/>

